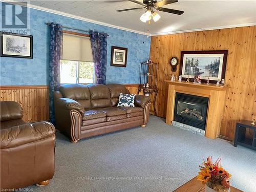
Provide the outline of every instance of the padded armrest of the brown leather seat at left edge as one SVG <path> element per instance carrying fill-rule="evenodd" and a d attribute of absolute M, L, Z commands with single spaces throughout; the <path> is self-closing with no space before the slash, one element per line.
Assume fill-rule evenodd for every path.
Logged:
<path fill-rule="evenodd" d="M 55 135 L 52 123 L 41 121 L 9 127 L 1 130 L 1 149 L 31 143 Z"/>

